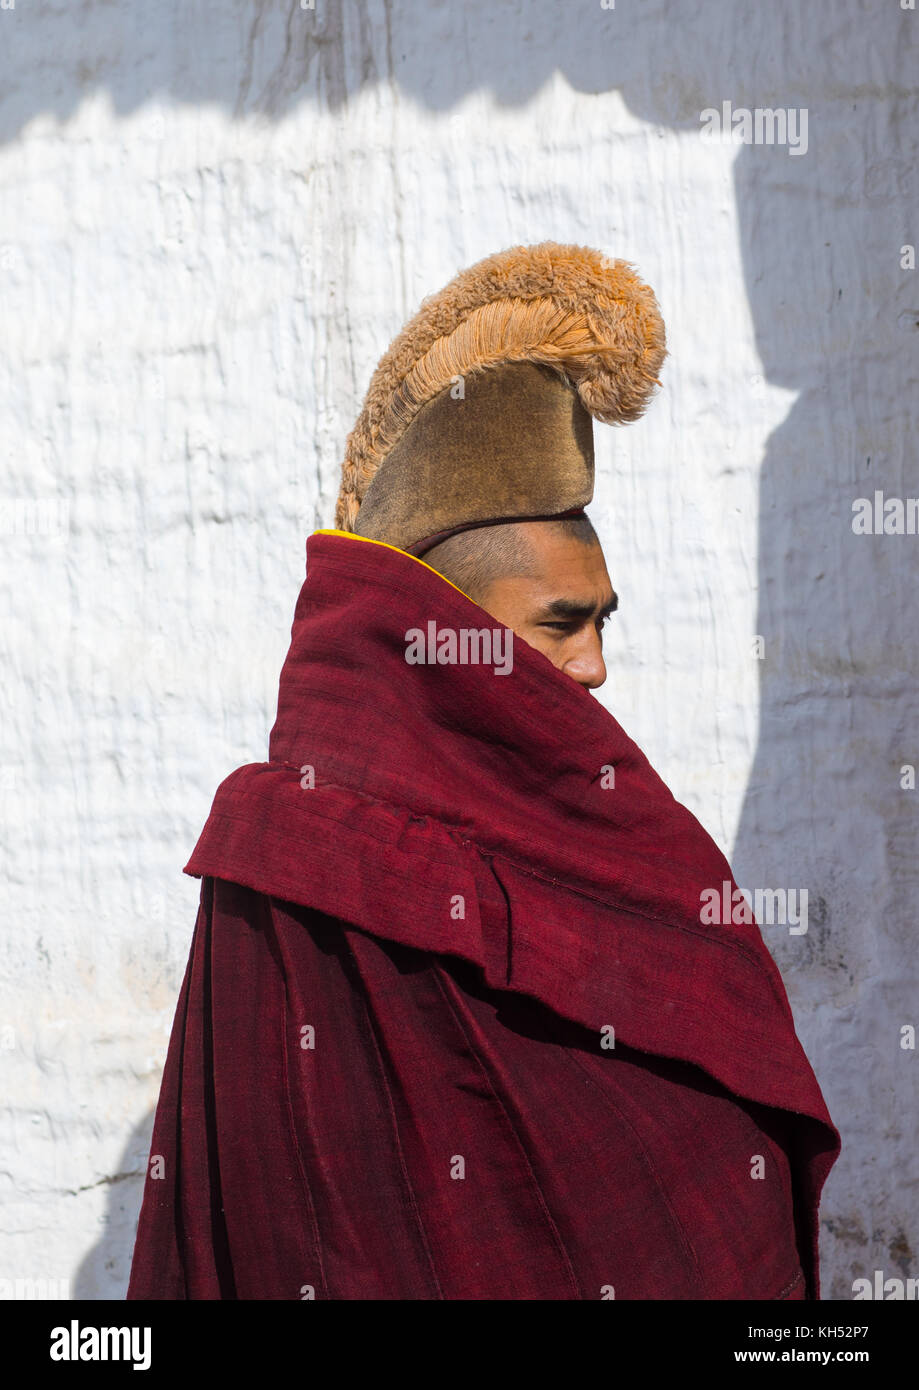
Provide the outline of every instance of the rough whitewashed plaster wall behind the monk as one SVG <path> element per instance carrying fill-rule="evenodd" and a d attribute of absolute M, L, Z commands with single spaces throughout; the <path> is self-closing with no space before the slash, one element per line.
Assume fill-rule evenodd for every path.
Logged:
<path fill-rule="evenodd" d="M 423 295 L 520 242 L 669 327 L 596 428 L 601 698 L 729 852 L 843 1130 L 824 1297 L 919 1276 L 919 15 L 897 0 L 0 11 L 0 1277 L 127 1287 L 217 784 L 261 760 L 345 435 Z M 699 113 L 805 107 L 806 154 Z M 762 660 L 752 655 L 763 639 Z M 699 1162 L 705 1162 L 701 1151 Z"/>

